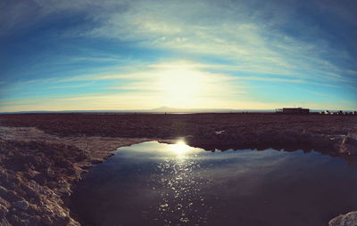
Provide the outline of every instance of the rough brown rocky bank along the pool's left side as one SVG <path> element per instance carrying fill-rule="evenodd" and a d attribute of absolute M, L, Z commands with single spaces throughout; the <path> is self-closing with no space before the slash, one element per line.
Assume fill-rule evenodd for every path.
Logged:
<path fill-rule="evenodd" d="M 0 126 L 0 225 L 79 225 L 66 202 L 71 185 L 110 150 L 147 139 L 61 138 Z"/>

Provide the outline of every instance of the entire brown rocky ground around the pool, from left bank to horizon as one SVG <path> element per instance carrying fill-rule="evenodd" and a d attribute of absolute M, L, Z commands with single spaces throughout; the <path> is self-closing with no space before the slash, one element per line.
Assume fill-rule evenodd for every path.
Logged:
<path fill-rule="evenodd" d="M 0 115 L 0 225 L 79 225 L 66 207 L 71 185 L 120 146 L 181 138 L 207 150 L 315 149 L 354 164 L 356 133 L 355 116 Z"/>

